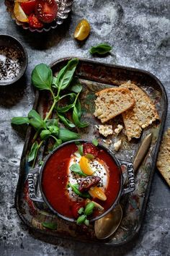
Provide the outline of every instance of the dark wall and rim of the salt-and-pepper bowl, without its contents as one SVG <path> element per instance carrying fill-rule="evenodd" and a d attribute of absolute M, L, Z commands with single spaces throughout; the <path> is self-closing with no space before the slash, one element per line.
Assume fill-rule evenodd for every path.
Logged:
<path fill-rule="evenodd" d="M 1 80 L 0 79 L 0 85 L 12 85 L 14 82 L 17 82 L 24 74 L 24 72 L 27 69 L 28 64 L 28 57 L 27 57 L 27 51 L 22 46 L 22 44 L 17 40 L 17 38 L 14 38 L 11 35 L 0 35 L 0 47 L 8 47 L 13 48 L 19 53 L 19 64 L 20 69 L 19 73 L 16 77 L 14 77 L 12 80 Z"/>

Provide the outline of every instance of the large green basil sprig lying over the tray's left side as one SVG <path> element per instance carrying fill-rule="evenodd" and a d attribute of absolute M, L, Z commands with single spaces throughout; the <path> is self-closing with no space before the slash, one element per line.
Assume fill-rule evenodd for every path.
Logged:
<path fill-rule="evenodd" d="M 79 135 L 76 132 L 62 128 L 58 124 L 58 119 L 60 119 L 68 128 L 84 127 L 84 122 L 80 121 L 82 112 L 81 104 L 78 99 L 82 86 L 77 77 L 73 77 L 78 63 L 79 59 L 71 59 L 66 66 L 58 72 L 57 77 L 53 77 L 53 72 L 50 67 L 43 63 L 38 64 L 32 71 L 32 85 L 34 85 L 37 90 L 49 90 L 53 99 L 53 104 L 48 114 L 45 116 L 45 119 L 42 119 L 40 114 L 35 110 L 31 110 L 25 117 L 18 116 L 12 118 L 12 124 L 30 124 L 36 130 L 28 155 L 28 161 L 34 161 L 32 167 L 35 165 L 37 152 L 45 140 L 52 138 L 53 148 L 55 148 L 61 145 L 62 142 L 79 139 Z M 66 88 L 72 93 L 61 94 Z M 66 106 L 57 106 L 60 101 L 66 97 L 69 98 L 70 103 Z M 57 119 L 50 119 L 54 108 L 56 109 L 58 117 Z M 66 116 L 67 111 L 74 111 L 72 120 L 68 119 Z M 38 142 L 37 136 L 40 137 Z"/>

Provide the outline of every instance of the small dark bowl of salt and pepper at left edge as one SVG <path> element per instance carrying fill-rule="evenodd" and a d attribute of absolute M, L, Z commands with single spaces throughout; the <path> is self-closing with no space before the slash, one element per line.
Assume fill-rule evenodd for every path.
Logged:
<path fill-rule="evenodd" d="M 4 49 L 4 56 L 2 55 L 2 51 Z M 7 55 L 5 55 L 5 51 L 6 54 L 8 54 L 8 57 L 6 57 Z M 1 77 L 2 73 L 3 73 L 3 68 L 4 67 L 10 67 L 10 63 L 6 62 L 6 58 L 10 59 L 10 52 L 12 52 L 13 56 L 12 58 L 14 58 L 14 54 L 15 54 L 15 58 L 17 59 L 17 64 L 19 64 L 18 67 L 18 72 L 16 75 L 13 74 L 13 76 L 8 77 L 8 79 L 6 79 L 6 77 Z M 0 35 L 0 86 L 4 86 L 4 85 L 12 85 L 14 84 L 14 82 L 17 82 L 24 74 L 25 70 L 27 69 L 27 63 L 28 63 L 28 57 L 27 57 L 27 51 L 25 50 L 24 46 L 22 46 L 21 43 L 19 43 L 19 40 L 17 40 L 17 38 L 14 38 L 11 35 Z M 3 62 L 3 58 L 4 58 L 4 62 Z"/>

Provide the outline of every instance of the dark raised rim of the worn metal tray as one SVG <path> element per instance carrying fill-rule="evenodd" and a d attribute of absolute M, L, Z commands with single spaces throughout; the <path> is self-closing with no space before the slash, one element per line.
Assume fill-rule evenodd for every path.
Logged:
<path fill-rule="evenodd" d="M 61 64 L 62 62 L 65 62 L 65 61 L 68 61 L 72 58 L 75 58 L 75 56 L 69 56 L 69 57 L 65 57 L 65 58 L 62 58 L 62 59 L 58 59 L 56 61 L 53 61 L 49 66 L 50 67 L 53 67 L 54 65 L 56 64 Z M 146 212 L 146 205 L 148 203 L 148 197 L 149 197 L 149 192 L 151 190 L 151 183 L 152 183 L 152 180 L 153 180 L 153 174 L 154 174 L 154 170 L 155 170 L 155 167 L 156 167 L 156 158 L 157 158 L 157 155 L 158 155 L 158 150 L 159 150 L 159 147 L 161 145 L 161 139 L 162 139 L 162 136 L 163 136 L 163 132 L 164 132 L 164 124 L 166 122 L 166 114 L 167 114 L 167 108 L 168 108 L 168 98 L 167 98 L 167 95 L 166 95 L 166 90 L 164 88 L 164 85 L 161 83 L 160 80 L 158 80 L 158 78 L 154 75 L 154 74 L 151 74 L 150 72 L 146 71 L 146 70 L 143 70 L 143 69 L 137 69 L 137 68 L 133 68 L 133 67 L 125 67 L 125 66 L 120 66 L 120 65 L 115 65 L 115 64 L 106 64 L 106 63 L 102 63 L 100 61 L 93 61 L 91 59 L 85 59 L 85 58 L 79 58 L 79 61 L 86 61 L 86 63 L 89 63 L 89 64 L 101 64 L 105 67 L 113 67 L 113 68 L 116 68 L 116 69 L 122 69 L 122 70 L 128 70 L 128 71 L 133 71 L 133 72 L 140 72 L 140 73 L 143 73 L 143 74 L 146 74 L 150 77 L 153 78 L 153 80 L 156 80 L 157 82 L 157 85 L 161 88 L 161 91 L 162 91 L 162 95 L 163 95 L 163 98 L 164 98 L 164 103 L 165 103 L 165 106 L 166 108 L 164 109 L 164 113 L 162 114 L 162 118 L 161 118 L 161 125 L 160 125 L 160 130 L 159 130 L 159 134 L 158 134 L 158 141 L 156 143 L 156 150 L 155 150 L 155 153 L 153 155 L 153 161 L 152 161 L 152 165 L 151 165 L 151 174 L 150 174 L 150 179 L 148 180 L 148 186 L 147 186 L 147 189 L 146 189 L 146 196 L 145 196 L 145 200 L 143 202 L 143 208 L 142 208 L 142 212 L 140 214 L 140 220 L 139 220 L 139 225 L 137 226 L 137 229 L 135 229 L 134 233 L 131 235 L 131 236 L 128 236 L 128 239 L 126 239 L 124 242 L 120 242 L 120 243 L 115 243 L 115 244 L 109 244 L 108 242 L 96 242 L 96 241 L 90 241 L 91 244 L 104 244 L 106 246 L 109 246 L 109 247 L 117 247 L 117 246 L 121 246 L 121 245 L 124 245 L 124 244 L 127 244 L 128 242 L 130 242 L 135 236 L 137 236 L 138 234 L 138 231 L 140 230 L 141 228 L 141 222 L 144 218 L 144 214 Z M 39 98 L 39 92 L 36 91 L 35 93 L 35 102 L 33 104 L 33 107 L 32 108 L 36 108 L 37 107 L 37 103 L 38 103 L 38 98 Z M 15 207 L 16 207 L 16 210 L 17 210 L 17 213 L 19 215 L 19 218 L 22 219 L 22 221 L 27 225 L 27 227 L 29 229 L 31 229 L 32 231 L 35 231 L 37 234 L 45 234 L 44 231 L 41 231 L 41 230 L 37 230 L 35 227 L 33 226 L 30 226 L 30 223 L 22 216 L 22 213 L 20 213 L 19 211 L 19 191 L 20 189 L 22 188 L 22 172 L 23 172 L 23 167 L 24 167 L 24 155 L 25 153 L 27 152 L 27 146 L 28 146 L 28 142 L 29 142 L 29 137 L 30 137 L 30 133 L 32 131 L 32 127 L 28 127 L 27 129 L 27 134 L 26 134 L 26 137 L 25 137 L 25 142 L 24 142 L 24 148 L 23 148 L 23 151 L 22 151 L 22 156 L 21 156 L 21 162 L 20 162 L 20 168 L 19 168 L 19 179 L 18 179 L 18 182 L 17 182 L 17 189 L 16 189 L 16 192 L 15 192 L 15 197 L 14 197 L 14 202 L 15 202 Z M 74 241 L 77 241 L 79 242 L 79 239 L 76 239 L 75 237 L 70 237 L 70 236 L 59 236 L 59 235 L 56 235 L 55 236 L 53 234 L 51 234 L 53 237 L 56 237 L 58 236 L 58 238 L 60 239 L 73 239 Z M 85 240 L 84 241 L 81 241 L 81 242 L 86 242 Z M 53 244 L 53 242 L 52 242 Z"/>

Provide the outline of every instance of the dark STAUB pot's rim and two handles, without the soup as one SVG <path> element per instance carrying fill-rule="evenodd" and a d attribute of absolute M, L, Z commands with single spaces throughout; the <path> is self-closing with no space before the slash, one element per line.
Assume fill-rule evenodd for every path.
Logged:
<path fill-rule="evenodd" d="M 40 168 L 37 167 L 37 168 L 30 169 L 30 171 L 28 173 L 28 176 L 27 176 L 28 177 L 30 199 L 32 201 L 35 201 L 35 202 L 45 202 L 48 205 L 48 207 L 50 208 L 50 210 L 52 210 L 53 213 L 57 214 L 59 217 L 65 219 L 66 221 L 71 221 L 71 222 L 75 221 L 75 219 L 67 218 L 66 216 L 61 215 L 60 213 L 58 213 L 50 205 L 50 202 L 48 202 L 48 199 L 47 199 L 47 197 L 45 197 L 45 193 L 43 192 L 43 189 L 42 189 L 42 175 L 43 175 L 44 168 L 45 168 L 46 164 L 48 163 L 48 160 L 51 157 L 51 155 L 53 155 L 53 153 L 55 153 L 55 151 L 60 150 L 61 148 L 63 148 L 65 145 L 71 144 L 73 142 L 89 142 L 89 143 L 91 143 L 90 141 L 87 141 L 87 140 L 71 140 L 69 142 L 63 143 L 58 148 L 53 150 L 52 153 L 47 155 L 47 157 L 45 158 L 45 161 L 44 161 L 42 167 L 40 167 Z M 124 161 L 124 160 L 123 161 L 122 160 L 118 160 L 115 157 L 115 155 L 110 150 L 108 150 L 108 148 L 105 148 L 103 145 L 98 145 L 97 147 L 102 148 L 103 150 L 105 150 L 109 155 L 111 155 L 111 157 L 115 161 L 115 163 L 116 163 L 116 165 L 118 167 L 118 170 L 120 172 L 120 191 L 118 192 L 116 200 L 114 202 L 112 202 L 112 205 L 111 205 L 111 207 L 108 210 L 106 210 L 104 213 L 102 213 L 102 215 L 97 216 L 96 218 L 89 219 L 89 221 L 97 221 L 99 218 L 104 217 L 113 208 L 115 208 L 117 203 L 119 203 L 120 197 L 122 195 L 125 195 L 127 193 L 133 192 L 135 190 L 135 181 L 134 181 L 134 175 L 133 175 L 133 163 L 130 163 L 130 162 Z M 121 171 L 121 166 L 122 165 L 126 166 L 127 167 L 127 171 L 128 171 L 128 181 L 129 182 L 128 182 L 128 187 L 127 188 L 123 187 L 123 176 L 122 176 L 122 171 Z M 40 192 L 41 192 L 42 197 L 37 197 L 37 195 L 36 195 L 35 182 L 34 182 L 34 174 L 39 174 L 38 182 L 39 182 L 39 185 L 40 185 Z"/>

